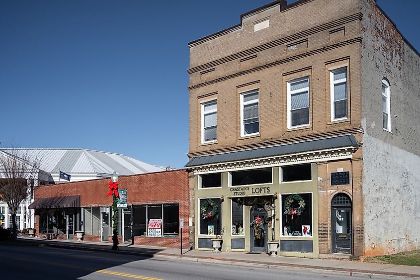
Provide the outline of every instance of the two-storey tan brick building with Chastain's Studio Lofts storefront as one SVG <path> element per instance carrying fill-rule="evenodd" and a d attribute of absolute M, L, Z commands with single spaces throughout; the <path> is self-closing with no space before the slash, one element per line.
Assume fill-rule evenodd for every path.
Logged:
<path fill-rule="evenodd" d="M 376 1 L 274 1 L 188 46 L 196 249 L 418 248 L 420 56 Z"/>

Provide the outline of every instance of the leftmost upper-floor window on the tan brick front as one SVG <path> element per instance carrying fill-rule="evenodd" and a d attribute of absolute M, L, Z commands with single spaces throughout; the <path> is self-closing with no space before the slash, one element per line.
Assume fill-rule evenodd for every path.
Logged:
<path fill-rule="evenodd" d="M 217 139 L 217 101 L 201 104 L 201 142 L 212 142 Z"/>

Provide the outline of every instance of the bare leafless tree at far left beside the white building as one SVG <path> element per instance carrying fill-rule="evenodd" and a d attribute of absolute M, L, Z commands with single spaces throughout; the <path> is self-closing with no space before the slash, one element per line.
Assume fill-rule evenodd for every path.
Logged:
<path fill-rule="evenodd" d="M 16 213 L 20 204 L 32 197 L 38 185 L 41 159 L 28 150 L 7 148 L 0 150 L 0 201 L 7 203 L 12 218 L 12 238 L 17 238 Z"/>

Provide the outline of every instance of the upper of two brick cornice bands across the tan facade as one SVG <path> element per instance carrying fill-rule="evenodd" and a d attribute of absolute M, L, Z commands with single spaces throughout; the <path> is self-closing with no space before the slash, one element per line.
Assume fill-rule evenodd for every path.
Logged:
<path fill-rule="evenodd" d="M 328 29 L 333 28 L 335 26 L 345 24 L 345 23 L 348 23 L 348 22 L 352 22 L 354 20 L 362 20 L 362 13 L 360 13 L 360 12 L 355 13 L 355 14 L 352 14 L 352 15 L 349 15 L 349 16 L 346 16 L 346 17 L 343 17 L 343 18 L 340 18 L 340 19 L 322 24 L 322 25 L 318 25 L 316 27 L 310 28 L 308 30 L 305 30 L 305 31 L 302 31 L 302 32 L 299 32 L 299 33 L 296 33 L 296 34 L 286 36 L 284 38 L 280 38 L 280 39 L 277 39 L 277 40 L 259 45 L 257 47 L 253 47 L 253 48 L 248 49 L 248 50 L 238 52 L 238 53 L 235 53 L 235 54 L 232 54 L 232 55 L 229 55 L 229 56 L 211 61 L 211 62 L 203 64 L 203 65 L 192 67 L 192 68 L 188 69 L 187 72 L 189 74 L 195 73 L 195 72 L 207 69 L 209 67 L 214 67 L 214 66 L 217 66 L 219 64 L 226 63 L 226 62 L 238 59 L 238 58 L 240 59 L 240 58 L 243 58 L 245 56 L 254 55 L 257 52 L 260 52 L 260 51 L 263 51 L 263 50 L 266 50 L 266 49 L 269 49 L 269 48 L 272 48 L 272 47 L 275 47 L 275 46 L 278 46 L 278 45 L 281 45 L 281 44 L 286 44 L 286 43 L 289 43 L 289 42 L 292 42 L 292 41 L 303 39 L 303 38 L 306 38 L 309 35 L 312 35 L 312 34 L 315 34 L 315 33 L 318 33 L 318 32 L 324 31 L 324 30 L 328 30 Z"/>

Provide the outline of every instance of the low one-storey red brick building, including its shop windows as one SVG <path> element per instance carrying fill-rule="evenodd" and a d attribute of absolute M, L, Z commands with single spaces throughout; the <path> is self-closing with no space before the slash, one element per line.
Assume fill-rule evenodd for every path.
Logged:
<path fill-rule="evenodd" d="M 35 229 L 38 237 L 111 241 L 112 196 L 107 196 L 109 179 L 36 187 Z M 174 170 L 120 177 L 119 188 L 127 190 L 127 207 L 118 210 L 120 242 L 179 247 L 179 219 L 188 221 L 188 174 Z M 162 219 L 162 237 L 151 237 L 150 219 Z M 187 222 L 185 222 L 187 225 Z M 187 226 L 185 226 L 187 227 Z M 133 238 L 133 239 L 132 239 Z M 189 235 L 182 236 L 189 248 Z"/>

